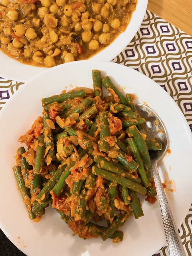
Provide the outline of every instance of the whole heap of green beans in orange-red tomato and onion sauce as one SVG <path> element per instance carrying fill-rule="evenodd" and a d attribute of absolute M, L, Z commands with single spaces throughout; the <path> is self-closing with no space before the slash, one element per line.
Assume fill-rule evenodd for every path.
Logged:
<path fill-rule="evenodd" d="M 18 148 L 13 171 L 31 220 L 51 205 L 80 238 L 117 243 L 124 223 L 144 216 L 140 198 L 156 201 L 148 150 L 162 145 L 142 133 L 134 95 L 100 70 L 92 80 L 93 89 L 42 99 L 42 116 L 19 138 L 26 149 Z"/>

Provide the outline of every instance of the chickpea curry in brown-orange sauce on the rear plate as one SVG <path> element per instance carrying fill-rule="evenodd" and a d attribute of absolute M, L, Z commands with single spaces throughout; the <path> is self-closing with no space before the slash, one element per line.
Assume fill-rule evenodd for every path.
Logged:
<path fill-rule="evenodd" d="M 52 67 L 88 59 L 126 29 L 137 0 L 1 0 L 0 49 Z"/>

